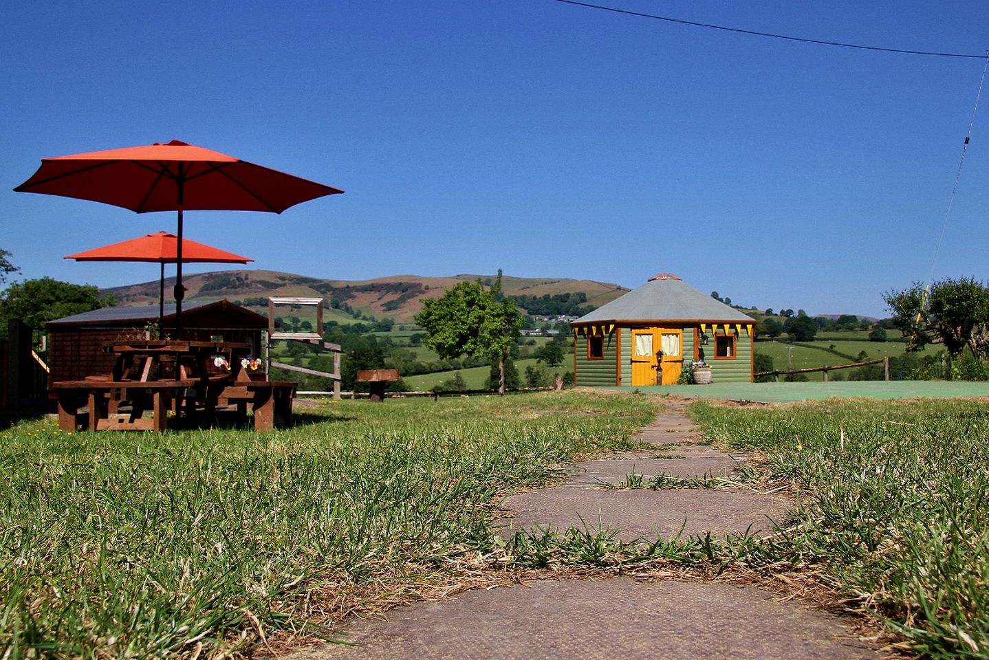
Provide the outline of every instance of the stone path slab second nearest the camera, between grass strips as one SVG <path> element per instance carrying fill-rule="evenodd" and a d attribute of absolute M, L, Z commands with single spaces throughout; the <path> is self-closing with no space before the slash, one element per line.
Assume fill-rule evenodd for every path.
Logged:
<path fill-rule="evenodd" d="M 511 495 L 499 534 L 550 526 L 556 532 L 619 529 L 625 541 L 682 536 L 745 534 L 768 536 L 772 521 L 783 523 L 793 502 L 779 493 L 742 490 L 543 488 Z M 582 520 L 583 519 L 583 520 Z M 685 523 L 684 523 L 685 521 Z"/>

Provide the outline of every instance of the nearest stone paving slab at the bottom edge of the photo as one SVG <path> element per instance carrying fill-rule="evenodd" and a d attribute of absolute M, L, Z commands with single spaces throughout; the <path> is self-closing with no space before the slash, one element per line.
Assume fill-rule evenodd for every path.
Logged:
<path fill-rule="evenodd" d="M 723 583 L 555 580 L 470 591 L 357 620 L 292 660 L 860 660 L 882 657 L 846 622 Z"/>

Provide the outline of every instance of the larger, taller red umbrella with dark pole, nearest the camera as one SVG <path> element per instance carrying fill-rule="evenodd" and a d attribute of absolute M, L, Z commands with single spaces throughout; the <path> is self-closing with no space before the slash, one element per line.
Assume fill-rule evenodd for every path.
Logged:
<path fill-rule="evenodd" d="M 175 331 L 182 335 L 182 212 L 186 209 L 263 210 L 343 191 L 308 179 L 172 140 L 167 144 L 92 151 L 42 159 L 34 176 L 14 189 L 123 206 L 138 213 L 178 211 Z"/>

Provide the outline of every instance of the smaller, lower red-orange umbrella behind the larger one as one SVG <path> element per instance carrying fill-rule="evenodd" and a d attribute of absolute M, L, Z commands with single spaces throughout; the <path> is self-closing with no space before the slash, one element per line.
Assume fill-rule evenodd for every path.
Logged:
<path fill-rule="evenodd" d="M 161 281 L 158 293 L 158 321 L 165 312 L 165 264 L 177 264 L 179 253 L 179 238 L 167 231 L 147 234 L 120 243 L 112 243 L 103 247 L 70 254 L 63 259 L 76 261 L 140 261 L 157 262 L 161 264 Z M 182 239 L 182 263 L 213 263 L 213 264 L 246 264 L 254 261 L 241 257 L 232 252 L 226 252 L 206 243 L 198 243 Z"/>

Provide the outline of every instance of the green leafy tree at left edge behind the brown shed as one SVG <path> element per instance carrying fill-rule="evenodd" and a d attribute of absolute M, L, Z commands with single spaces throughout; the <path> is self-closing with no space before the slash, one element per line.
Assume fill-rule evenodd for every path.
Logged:
<path fill-rule="evenodd" d="M 113 295 L 100 295 L 100 290 L 91 285 L 72 285 L 51 278 L 26 280 L 0 293 L 0 336 L 7 336 L 8 322 L 14 318 L 37 329 L 45 321 L 114 304 Z"/>

